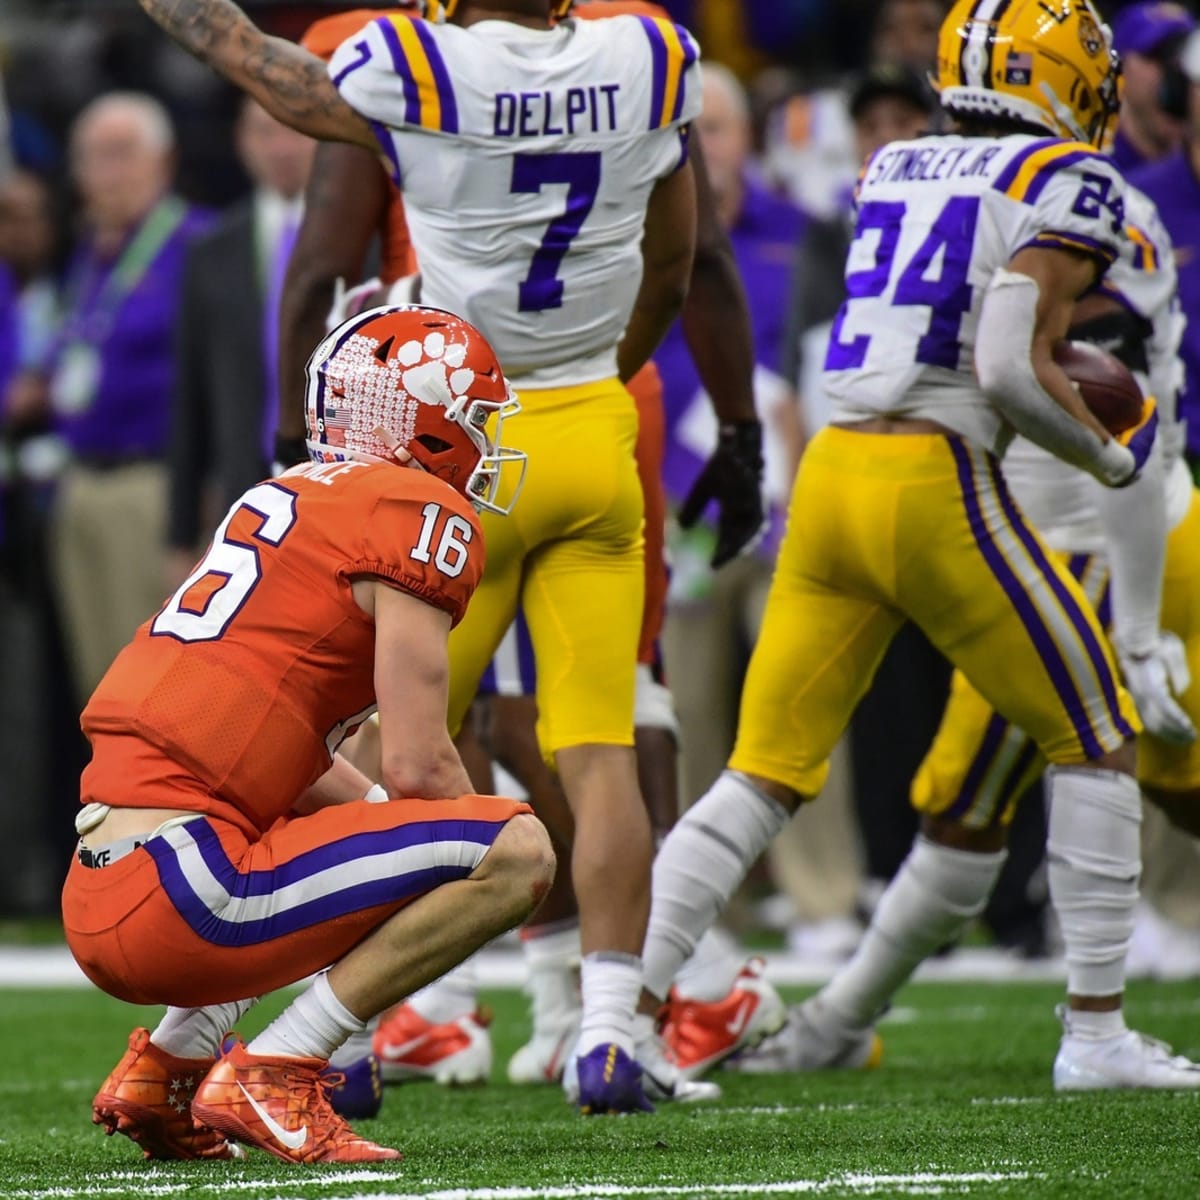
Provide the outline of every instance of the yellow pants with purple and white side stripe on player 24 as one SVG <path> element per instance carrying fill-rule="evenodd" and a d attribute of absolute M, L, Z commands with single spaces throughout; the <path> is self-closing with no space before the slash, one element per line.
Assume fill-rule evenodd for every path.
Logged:
<path fill-rule="evenodd" d="M 829 427 L 796 479 L 730 767 L 815 796 L 906 618 L 1051 762 L 1136 731 L 1096 614 L 991 455 L 958 437 Z"/>

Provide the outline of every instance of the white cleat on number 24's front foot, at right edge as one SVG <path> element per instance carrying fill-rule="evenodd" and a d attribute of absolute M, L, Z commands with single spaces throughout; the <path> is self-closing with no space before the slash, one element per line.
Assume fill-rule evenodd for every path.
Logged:
<path fill-rule="evenodd" d="M 1200 1063 L 1172 1055 L 1165 1042 L 1136 1030 L 1094 1042 L 1070 1032 L 1070 1010 L 1055 1009 L 1062 1042 L 1054 1061 L 1056 1092 L 1096 1092 L 1123 1087 L 1200 1087 Z"/>

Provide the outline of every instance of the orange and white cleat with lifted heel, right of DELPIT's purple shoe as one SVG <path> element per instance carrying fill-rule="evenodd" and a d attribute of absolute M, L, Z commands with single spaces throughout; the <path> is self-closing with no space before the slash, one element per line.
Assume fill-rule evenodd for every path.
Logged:
<path fill-rule="evenodd" d="M 782 1027 L 787 1010 L 779 992 L 763 979 L 764 966 L 762 959 L 750 959 L 722 1000 L 689 1000 L 671 989 L 660 1036 L 667 1060 L 685 1079 L 698 1079 Z"/>

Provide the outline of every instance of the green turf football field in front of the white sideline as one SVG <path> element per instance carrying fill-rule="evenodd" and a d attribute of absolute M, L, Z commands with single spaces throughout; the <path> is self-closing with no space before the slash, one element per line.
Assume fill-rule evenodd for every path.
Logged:
<path fill-rule="evenodd" d="M 794 995 L 794 994 L 793 994 Z M 583 1118 L 553 1088 L 391 1088 L 361 1128 L 378 1168 L 143 1163 L 89 1120 L 128 1030 L 156 1013 L 83 989 L 0 988 L 0 1198 L 1200 1196 L 1200 1094 L 1055 1096 L 1052 984 L 918 984 L 882 1026 L 880 1070 L 719 1074 L 722 1102 Z M 492 992 L 497 1079 L 524 1031 Z M 277 1003 L 260 1006 L 254 1032 Z M 1200 1057 L 1200 988 L 1138 984 L 1130 1018 Z"/>

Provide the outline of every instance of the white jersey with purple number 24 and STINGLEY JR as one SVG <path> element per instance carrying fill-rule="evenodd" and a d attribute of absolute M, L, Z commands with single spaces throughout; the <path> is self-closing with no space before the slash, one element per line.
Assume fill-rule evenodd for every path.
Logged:
<path fill-rule="evenodd" d="M 1124 186 L 1091 146 L 1060 138 L 949 134 L 877 151 L 826 356 L 830 420 L 924 418 L 1003 454 L 1012 426 L 974 374 L 984 290 L 1027 246 L 1111 263 L 1126 242 Z"/>

